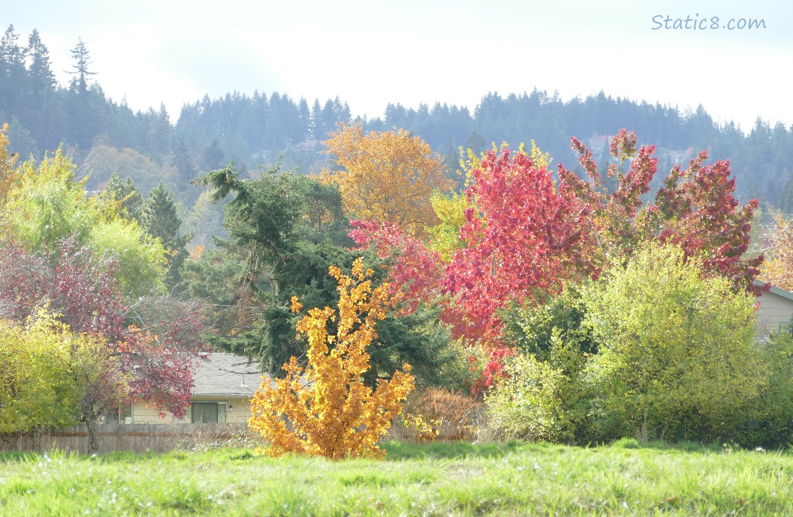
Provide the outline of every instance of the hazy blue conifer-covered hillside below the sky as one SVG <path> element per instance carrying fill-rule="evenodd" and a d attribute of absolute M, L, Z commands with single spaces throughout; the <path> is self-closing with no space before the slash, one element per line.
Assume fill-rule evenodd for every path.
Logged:
<path fill-rule="evenodd" d="M 105 95 L 82 41 L 71 54 L 72 79 L 60 85 L 39 33 L 33 30 L 24 38 L 13 25 L 6 29 L 0 41 L 0 121 L 10 124 L 11 150 L 23 159 L 40 158 L 63 145 L 81 166 L 80 173 L 90 174 L 88 190 L 102 190 L 113 172 L 132 178 L 144 196 L 162 181 L 182 201 L 185 216 L 199 195 L 190 181 L 232 160 L 248 170 L 284 155 L 285 169 L 319 172 L 328 163 L 321 142 L 336 123 L 352 119 L 347 102 L 339 98 L 308 101 L 266 94 L 267 85 L 252 94 L 185 99 L 175 118 L 164 105 L 133 111 L 125 99 Z M 577 155 L 569 149 L 570 136 L 607 155 L 611 136 L 620 128 L 633 128 L 640 144 L 656 144 L 659 170 L 686 163 L 707 149 L 711 156 L 731 160 L 741 201 L 758 197 L 764 213 L 793 212 L 793 170 L 787 159 L 793 128 L 761 120 L 741 128 L 714 121 L 701 105 L 681 108 L 603 92 L 563 100 L 526 86 L 522 94 L 488 93 L 473 110 L 442 103 L 414 109 L 397 103 L 387 105 L 383 117 L 358 121 L 366 130 L 404 128 L 421 136 L 444 156 L 452 178 L 459 147 L 482 151 L 492 142 L 516 145 L 534 139 L 554 165 L 571 167 Z"/>

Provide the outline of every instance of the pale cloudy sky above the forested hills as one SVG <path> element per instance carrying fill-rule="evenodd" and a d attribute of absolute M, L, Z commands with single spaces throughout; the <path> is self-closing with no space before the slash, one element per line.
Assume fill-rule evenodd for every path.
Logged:
<path fill-rule="evenodd" d="M 22 43 L 39 30 L 59 82 L 82 38 L 105 94 L 136 110 L 163 102 L 174 122 L 185 103 L 232 91 L 338 96 L 371 119 L 389 102 L 473 111 L 488 92 L 537 88 L 701 104 L 745 131 L 757 117 L 793 124 L 788 0 L 0 3 Z"/>

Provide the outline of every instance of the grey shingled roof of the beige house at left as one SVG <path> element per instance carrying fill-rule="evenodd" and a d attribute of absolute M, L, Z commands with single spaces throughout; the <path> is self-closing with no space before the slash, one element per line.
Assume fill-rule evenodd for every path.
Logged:
<path fill-rule="evenodd" d="M 262 384 L 259 365 L 232 354 L 207 354 L 193 375 L 193 397 L 251 397 Z"/>

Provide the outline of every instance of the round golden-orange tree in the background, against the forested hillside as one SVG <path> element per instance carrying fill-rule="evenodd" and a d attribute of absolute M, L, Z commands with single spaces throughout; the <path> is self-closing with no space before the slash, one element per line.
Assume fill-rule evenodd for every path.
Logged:
<path fill-rule="evenodd" d="M 434 190 L 451 190 L 440 156 L 404 129 L 364 134 L 362 124 L 339 124 L 325 145 L 343 170 L 323 171 L 339 185 L 347 215 L 399 224 L 414 236 L 439 224 L 430 204 Z"/>

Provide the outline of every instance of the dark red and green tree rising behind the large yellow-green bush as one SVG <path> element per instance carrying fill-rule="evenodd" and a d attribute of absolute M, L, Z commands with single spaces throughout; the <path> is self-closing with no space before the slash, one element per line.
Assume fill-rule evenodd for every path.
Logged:
<path fill-rule="evenodd" d="M 701 151 L 689 161 L 688 168 L 673 167 L 657 190 L 654 203 L 645 204 L 642 196 L 649 192 L 657 171 L 655 146 L 637 151 L 635 133 L 621 130 L 610 145 L 611 157 L 618 163 L 607 168 L 607 178 L 616 178 L 617 183 L 609 192 L 607 178 L 600 174 L 592 151 L 577 138 L 571 140 L 589 182 L 560 163 L 560 189 L 572 191 L 589 209 L 588 236 L 597 243 L 591 254 L 592 270 L 596 272 L 609 259 L 630 256 L 642 241 L 657 239 L 683 247 L 687 257 L 702 262 L 705 274 L 730 278 L 734 289 L 759 293 L 753 281 L 760 273 L 763 257 L 744 257 L 757 199 L 739 207 L 729 161 L 705 165 L 707 151 Z"/>

